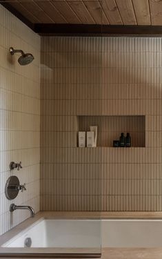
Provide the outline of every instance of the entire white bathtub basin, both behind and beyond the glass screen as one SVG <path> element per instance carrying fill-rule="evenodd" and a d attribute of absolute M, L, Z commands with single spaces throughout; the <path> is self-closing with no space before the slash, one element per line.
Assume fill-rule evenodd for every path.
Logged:
<path fill-rule="evenodd" d="M 1 247 L 97 248 L 162 247 L 162 220 L 41 219 Z"/>

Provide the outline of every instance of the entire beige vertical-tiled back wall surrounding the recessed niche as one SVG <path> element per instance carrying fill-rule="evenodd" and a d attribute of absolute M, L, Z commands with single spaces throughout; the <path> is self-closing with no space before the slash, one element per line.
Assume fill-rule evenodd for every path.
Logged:
<path fill-rule="evenodd" d="M 41 210 L 161 211 L 161 50 L 161 38 L 43 37 Z M 79 115 L 143 115 L 145 146 L 78 148 Z"/>

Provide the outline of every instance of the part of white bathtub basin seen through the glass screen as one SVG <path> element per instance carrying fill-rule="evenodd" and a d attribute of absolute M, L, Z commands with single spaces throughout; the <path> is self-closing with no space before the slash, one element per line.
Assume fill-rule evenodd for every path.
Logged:
<path fill-rule="evenodd" d="M 24 247 L 26 238 L 31 238 L 31 247 L 99 248 L 101 247 L 101 222 L 99 220 L 39 220 L 2 247 Z"/>

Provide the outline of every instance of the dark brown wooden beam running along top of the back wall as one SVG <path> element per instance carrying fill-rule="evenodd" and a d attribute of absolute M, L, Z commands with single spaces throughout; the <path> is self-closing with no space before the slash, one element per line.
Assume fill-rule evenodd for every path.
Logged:
<path fill-rule="evenodd" d="M 97 24 L 35 24 L 39 35 L 50 36 L 162 36 L 162 26 L 112 26 Z"/>

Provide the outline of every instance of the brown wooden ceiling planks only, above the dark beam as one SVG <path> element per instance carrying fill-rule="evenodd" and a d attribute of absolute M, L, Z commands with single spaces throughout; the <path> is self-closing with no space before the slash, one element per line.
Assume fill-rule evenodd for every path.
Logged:
<path fill-rule="evenodd" d="M 3 0 L 4 2 L 8 2 L 8 5 L 31 23 L 162 26 L 161 0 Z"/>

